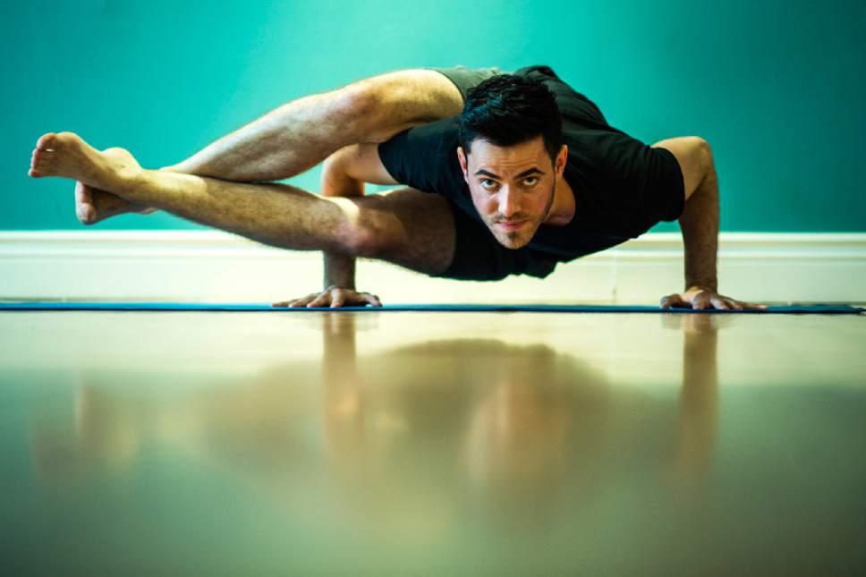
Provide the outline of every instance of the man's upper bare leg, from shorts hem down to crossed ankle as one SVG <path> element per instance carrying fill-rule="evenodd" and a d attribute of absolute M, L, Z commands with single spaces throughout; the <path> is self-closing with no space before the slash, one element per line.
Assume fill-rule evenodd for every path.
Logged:
<path fill-rule="evenodd" d="M 279 106 L 169 168 L 237 182 L 282 180 L 344 146 L 383 142 L 462 109 L 460 91 L 439 72 L 387 72 Z"/>

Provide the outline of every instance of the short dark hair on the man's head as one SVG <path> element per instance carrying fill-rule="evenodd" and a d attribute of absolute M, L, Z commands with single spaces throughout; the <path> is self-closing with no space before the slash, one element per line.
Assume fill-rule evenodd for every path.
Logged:
<path fill-rule="evenodd" d="M 562 116 L 554 93 L 541 81 L 497 74 L 469 90 L 457 117 L 460 146 L 468 155 L 477 138 L 512 146 L 541 136 L 551 160 L 563 146 Z"/>

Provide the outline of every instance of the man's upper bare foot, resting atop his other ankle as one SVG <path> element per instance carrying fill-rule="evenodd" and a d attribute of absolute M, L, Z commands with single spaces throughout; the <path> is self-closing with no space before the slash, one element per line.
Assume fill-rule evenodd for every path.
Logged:
<path fill-rule="evenodd" d="M 114 148 L 99 152 L 74 132 L 48 132 L 36 143 L 30 160 L 30 176 L 63 176 L 100 190 L 112 190 L 132 177 L 141 166 L 129 151 Z"/>

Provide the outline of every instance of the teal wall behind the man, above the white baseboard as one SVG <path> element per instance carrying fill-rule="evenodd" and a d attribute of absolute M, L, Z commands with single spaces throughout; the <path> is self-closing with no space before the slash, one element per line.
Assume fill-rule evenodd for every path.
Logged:
<path fill-rule="evenodd" d="M 156 168 L 284 101 L 401 68 L 549 64 L 644 142 L 715 151 L 722 229 L 866 231 L 866 3 L 4 2 L 0 229 L 81 230 L 43 132 Z M 318 168 L 288 182 L 318 189 Z M 200 228 L 157 213 L 94 229 Z M 677 231 L 676 223 L 656 231 Z"/>

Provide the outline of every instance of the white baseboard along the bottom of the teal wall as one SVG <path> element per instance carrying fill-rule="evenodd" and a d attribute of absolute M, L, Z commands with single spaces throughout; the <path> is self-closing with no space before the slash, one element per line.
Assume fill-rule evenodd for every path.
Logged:
<path fill-rule="evenodd" d="M 321 284 L 321 254 L 219 231 L 0 233 L 0 299 L 268 302 Z M 866 301 L 866 233 L 721 233 L 721 293 L 745 301 Z M 683 284 L 679 233 L 649 233 L 556 267 L 547 279 L 429 278 L 361 260 L 358 287 L 385 303 L 655 304 Z"/>

